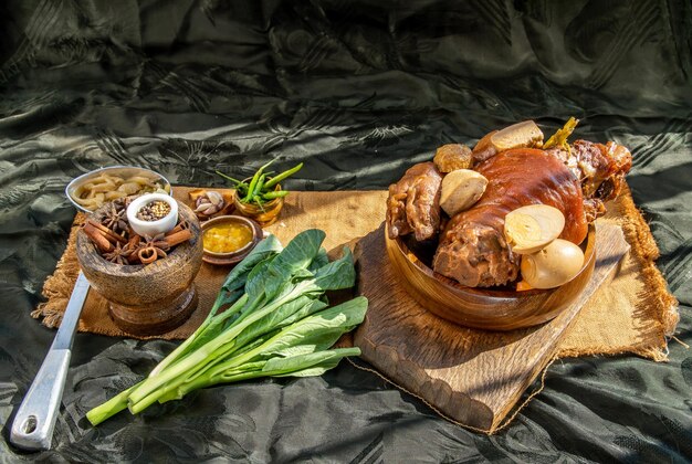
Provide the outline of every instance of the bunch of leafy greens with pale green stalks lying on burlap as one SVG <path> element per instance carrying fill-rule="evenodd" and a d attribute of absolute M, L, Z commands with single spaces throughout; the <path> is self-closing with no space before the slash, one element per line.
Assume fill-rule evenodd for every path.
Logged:
<path fill-rule="evenodd" d="M 285 249 L 273 235 L 260 242 L 228 275 L 195 334 L 141 382 L 87 412 L 90 422 L 126 408 L 138 413 L 218 383 L 319 376 L 342 358 L 358 356 L 358 348 L 329 349 L 363 321 L 367 299 L 328 307 L 325 292 L 352 287 L 356 273 L 347 247 L 339 260 L 327 260 L 324 238 L 308 230 Z"/>

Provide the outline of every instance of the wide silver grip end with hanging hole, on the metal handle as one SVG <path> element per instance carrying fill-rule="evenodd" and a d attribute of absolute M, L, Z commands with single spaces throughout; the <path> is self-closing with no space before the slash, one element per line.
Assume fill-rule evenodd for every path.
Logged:
<path fill-rule="evenodd" d="M 62 401 L 71 350 L 51 349 L 12 422 L 10 441 L 25 450 L 48 450 Z"/>

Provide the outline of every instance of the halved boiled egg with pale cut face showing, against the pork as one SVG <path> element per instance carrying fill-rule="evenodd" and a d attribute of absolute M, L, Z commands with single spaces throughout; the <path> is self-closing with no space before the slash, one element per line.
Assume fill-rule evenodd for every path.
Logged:
<path fill-rule="evenodd" d="M 513 253 L 535 253 L 557 239 L 565 228 L 565 215 L 547 204 L 530 204 L 504 218 L 504 235 Z"/>

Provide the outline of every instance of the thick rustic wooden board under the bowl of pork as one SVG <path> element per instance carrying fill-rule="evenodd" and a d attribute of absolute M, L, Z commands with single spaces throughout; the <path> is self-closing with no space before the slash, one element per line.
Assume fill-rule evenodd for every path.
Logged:
<path fill-rule="evenodd" d="M 441 319 L 409 296 L 389 265 L 382 224 L 356 245 L 358 292 L 369 306 L 354 344 L 392 382 L 449 418 L 492 433 L 629 250 L 621 229 L 612 224 L 598 224 L 596 244 L 591 280 L 555 319 L 526 329 L 485 331 Z"/>

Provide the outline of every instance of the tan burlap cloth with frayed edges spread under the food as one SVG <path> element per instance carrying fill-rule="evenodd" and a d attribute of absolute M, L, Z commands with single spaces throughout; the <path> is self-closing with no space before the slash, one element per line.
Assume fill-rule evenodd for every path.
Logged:
<path fill-rule="evenodd" d="M 187 202 L 190 189 L 178 187 L 175 197 Z M 385 219 L 386 191 L 292 192 L 280 220 L 266 228 L 282 243 L 300 231 L 311 228 L 326 232 L 325 247 L 353 246 L 357 239 L 377 229 Z M 52 276 L 44 284 L 46 298 L 33 313 L 48 327 L 60 325 L 78 272 L 75 236 L 84 221 L 77 214 L 65 253 Z M 631 251 L 620 272 L 601 287 L 581 309 L 577 320 L 559 342 L 557 357 L 632 352 L 657 361 L 667 359 L 668 338 L 678 324 L 678 302 L 668 292 L 665 280 L 653 262 L 659 255 L 649 228 L 635 207 L 628 189 L 608 204 L 608 214 L 599 221 L 619 224 Z M 203 264 L 196 285 L 199 304 L 192 316 L 177 329 L 157 337 L 181 339 L 189 336 L 205 319 L 229 267 Z M 105 300 L 90 292 L 80 331 L 116 337 L 133 337 L 122 331 L 106 310 Z"/>

